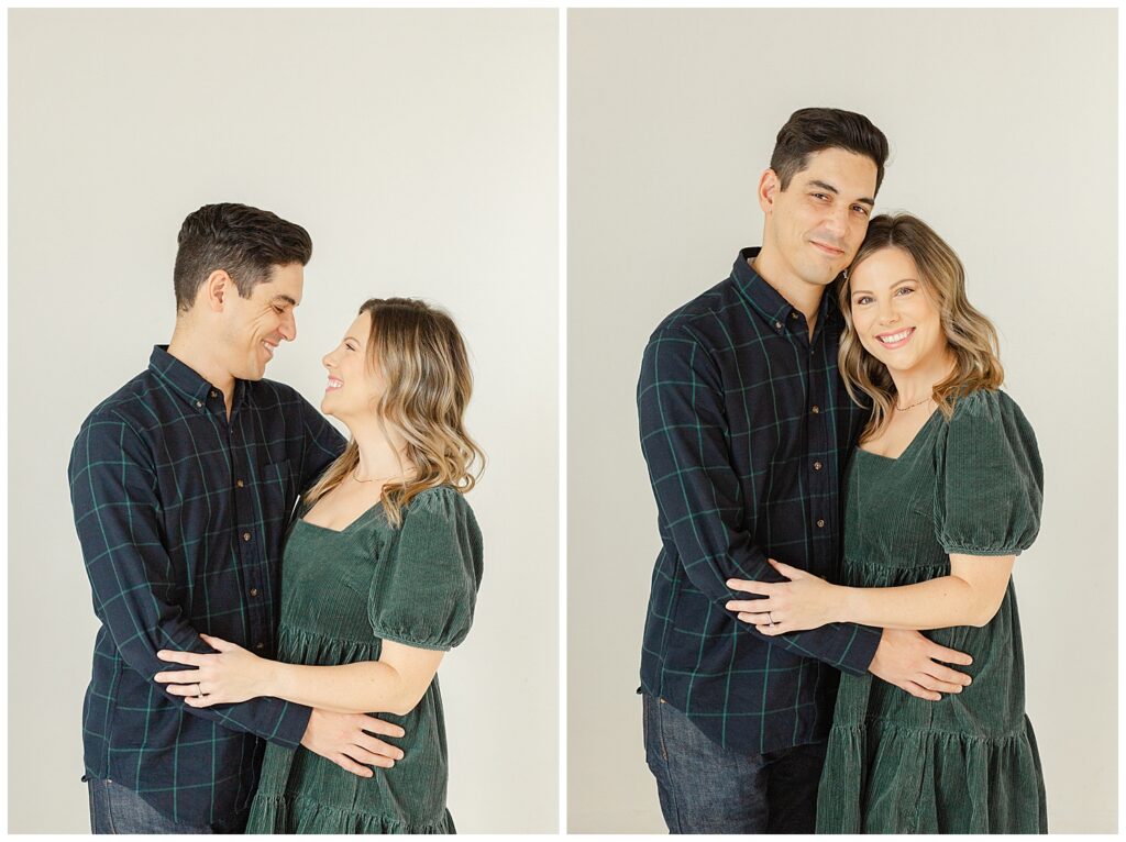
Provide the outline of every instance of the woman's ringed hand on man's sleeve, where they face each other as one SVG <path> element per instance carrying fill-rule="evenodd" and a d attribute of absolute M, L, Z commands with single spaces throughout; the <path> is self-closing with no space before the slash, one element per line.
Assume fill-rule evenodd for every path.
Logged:
<path fill-rule="evenodd" d="M 269 696 L 266 686 L 272 661 L 258 657 L 241 646 L 211 635 L 199 637 L 218 654 L 199 655 L 195 652 L 161 650 L 157 653 L 161 661 L 197 669 L 158 672 L 153 680 L 168 684 L 164 688 L 168 692 L 185 697 L 185 704 L 194 708 Z"/>

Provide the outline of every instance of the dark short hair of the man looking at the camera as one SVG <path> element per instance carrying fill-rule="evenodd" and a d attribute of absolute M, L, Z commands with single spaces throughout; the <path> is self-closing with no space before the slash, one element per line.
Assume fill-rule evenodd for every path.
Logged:
<path fill-rule="evenodd" d="M 839 108 L 801 108 L 778 132 L 770 169 L 778 173 L 781 189 L 810 165 L 810 155 L 823 149 L 843 149 L 870 158 L 876 164 L 876 192 L 884 180 L 887 138 L 863 114 Z"/>

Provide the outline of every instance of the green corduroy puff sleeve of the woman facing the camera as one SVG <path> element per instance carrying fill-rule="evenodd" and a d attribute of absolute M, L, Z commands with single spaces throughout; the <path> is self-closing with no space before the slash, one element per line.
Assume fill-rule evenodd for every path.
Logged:
<path fill-rule="evenodd" d="M 946 553 L 1020 555 L 1040 528 L 1036 436 L 1003 392 L 958 400 L 936 446 L 935 528 Z"/>

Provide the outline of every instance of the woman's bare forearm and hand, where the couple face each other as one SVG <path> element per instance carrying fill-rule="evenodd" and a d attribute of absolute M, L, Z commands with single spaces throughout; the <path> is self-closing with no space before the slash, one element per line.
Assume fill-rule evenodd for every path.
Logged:
<path fill-rule="evenodd" d="M 200 635 L 214 655 L 161 651 L 161 661 L 195 666 L 158 673 L 168 692 L 193 707 L 272 696 L 340 714 L 396 714 L 414 709 L 430 687 L 444 652 L 383 642 L 378 661 L 303 666 L 258 657 L 227 641 Z M 202 696 L 199 693 L 203 693 Z"/>

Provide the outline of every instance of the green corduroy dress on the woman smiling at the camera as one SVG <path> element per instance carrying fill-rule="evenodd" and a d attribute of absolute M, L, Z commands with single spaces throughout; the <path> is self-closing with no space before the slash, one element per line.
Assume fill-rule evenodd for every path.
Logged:
<path fill-rule="evenodd" d="M 949 554 L 1016 555 L 1039 529 L 1036 438 L 1001 392 L 958 400 L 897 458 L 852 454 L 846 584 L 890 588 L 950 573 Z M 989 558 L 980 559 L 989 564 Z M 968 653 L 973 683 L 941 701 L 842 675 L 817 798 L 817 833 L 1046 833 L 1044 778 L 1025 715 L 1025 664 L 1009 581 L 984 627 L 923 633 Z"/>

